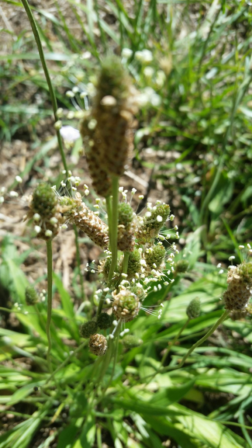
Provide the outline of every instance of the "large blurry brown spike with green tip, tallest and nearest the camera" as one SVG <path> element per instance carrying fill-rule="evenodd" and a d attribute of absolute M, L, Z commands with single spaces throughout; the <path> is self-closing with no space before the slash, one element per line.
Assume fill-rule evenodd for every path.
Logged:
<path fill-rule="evenodd" d="M 109 175 L 121 176 L 133 149 L 132 88 L 120 58 L 106 57 L 96 86 L 92 116 L 96 120 L 93 140 L 98 144 L 100 164 Z"/>

